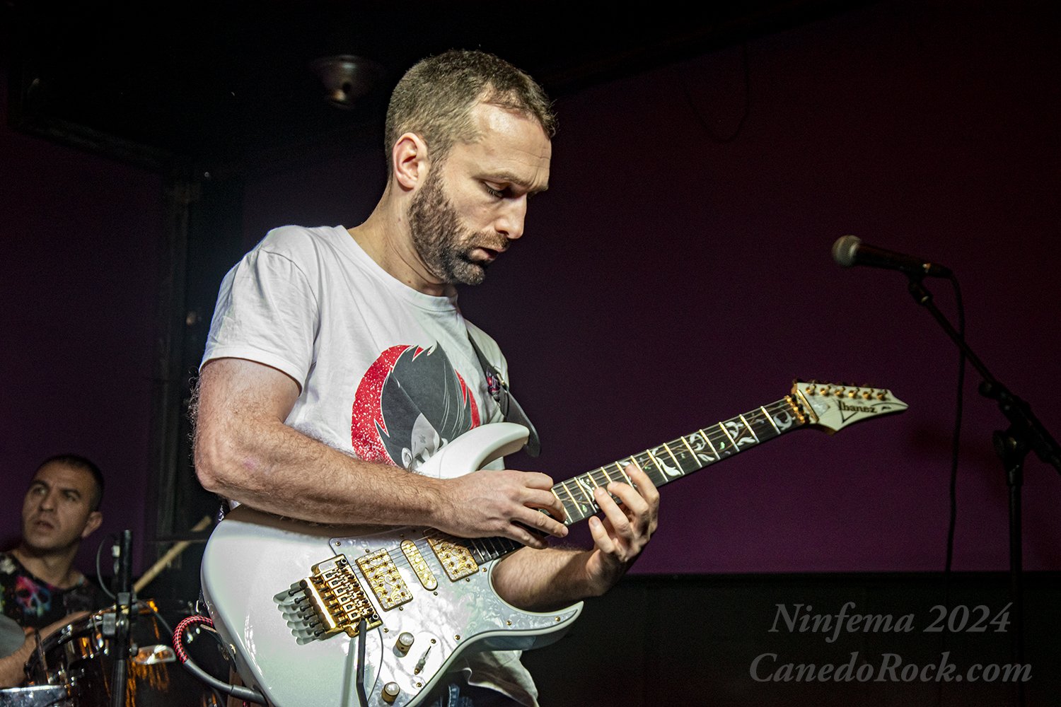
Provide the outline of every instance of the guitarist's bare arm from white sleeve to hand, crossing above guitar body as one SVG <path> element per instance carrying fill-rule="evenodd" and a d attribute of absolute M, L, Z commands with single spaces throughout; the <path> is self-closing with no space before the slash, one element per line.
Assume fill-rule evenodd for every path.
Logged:
<path fill-rule="evenodd" d="M 522 526 L 567 534 L 537 510 L 563 517 L 546 475 L 505 470 L 434 479 L 364 462 L 284 424 L 298 392 L 290 376 L 255 361 L 219 358 L 203 368 L 195 470 L 205 489 L 318 523 L 423 525 L 536 548 L 544 541 Z"/>

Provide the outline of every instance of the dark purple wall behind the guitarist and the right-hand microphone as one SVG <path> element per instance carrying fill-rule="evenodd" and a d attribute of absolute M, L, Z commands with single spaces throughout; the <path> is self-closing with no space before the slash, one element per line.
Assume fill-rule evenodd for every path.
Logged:
<path fill-rule="evenodd" d="M 1058 20 L 1037 15 L 1053 12 L 882 3 L 751 42 L 747 95 L 735 48 L 558 102 L 552 189 L 462 295 L 542 432 L 536 467 L 573 476 L 775 401 L 794 376 L 910 405 L 667 487 L 639 571 L 943 568 L 957 353 L 901 275 L 832 263 L 840 235 L 952 267 L 975 351 L 1061 430 Z M 381 160 L 253 182 L 248 243 L 358 223 Z M 953 316 L 945 283 L 930 288 Z M 977 381 L 955 567 L 1005 569 L 1002 419 Z M 1024 501 L 1025 566 L 1061 569 L 1061 478 L 1029 460 Z"/>

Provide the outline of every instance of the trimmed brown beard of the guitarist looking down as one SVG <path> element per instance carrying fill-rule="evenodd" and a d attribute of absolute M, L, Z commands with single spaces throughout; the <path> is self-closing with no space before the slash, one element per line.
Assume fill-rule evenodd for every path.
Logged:
<path fill-rule="evenodd" d="M 485 245 L 491 242 L 491 237 L 487 234 L 476 237 L 473 231 L 460 223 L 456 209 L 442 191 L 437 166 L 428 175 L 428 181 L 420 192 L 413 197 L 408 210 L 408 228 L 413 245 L 436 278 L 465 285 L 477 285 L 486 278 L 488 263 L 475 262 L 469 253 L 476 242 Z"/>

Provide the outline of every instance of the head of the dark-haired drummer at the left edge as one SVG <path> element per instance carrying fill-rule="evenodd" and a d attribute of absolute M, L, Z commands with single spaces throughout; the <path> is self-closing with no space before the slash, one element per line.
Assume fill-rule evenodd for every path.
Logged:
<path fill-rule="evenodd" d="M 38 552 L 76 547 L 100 524 L 103 474 L 85 457 L 41 462 L 22 501 L 22 542 Z"/>

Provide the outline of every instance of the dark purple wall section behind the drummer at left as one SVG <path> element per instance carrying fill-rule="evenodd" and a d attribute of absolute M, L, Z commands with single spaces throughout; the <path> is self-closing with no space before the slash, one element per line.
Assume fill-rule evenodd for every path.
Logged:
<path fill-rule="evenodd" d="M 0 73 L 0 114 L 6 96 Z M 139 565 L 153 471 L 162 181 L 6 122 L 0 175 L 0 546 L 18 537 L 37 464 L 73 452 L 94 460 L 107 483 L 103 527 L 82 544 L 79 567 L 89 571 L 99 542 L 124 528 L 134 531 Z"/>

